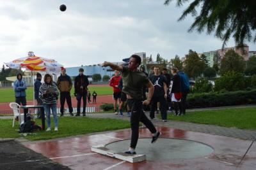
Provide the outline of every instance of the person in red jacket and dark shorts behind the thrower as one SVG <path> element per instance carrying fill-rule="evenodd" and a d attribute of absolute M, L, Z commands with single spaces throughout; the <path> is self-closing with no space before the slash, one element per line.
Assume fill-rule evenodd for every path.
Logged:
<path fill-rule="evenodd" d="M 119 76 L 119 74 L 120 72 L 115 70 L 115 76 L 111 77 L 109 82 L 109 85 L 113 87 L 114 110 L 116 115 L 118 114 L 116 110 L 116 103 L 117 101 L 118 101 L 118 104 L 120 104 L 121 102 L 121 89 L 118 88 L 118 83 L 122 77 Z"/>

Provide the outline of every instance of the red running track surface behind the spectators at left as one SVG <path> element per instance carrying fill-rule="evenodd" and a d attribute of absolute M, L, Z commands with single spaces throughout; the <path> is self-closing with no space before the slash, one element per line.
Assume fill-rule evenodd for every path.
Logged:
<path fill-rule="evenodd" d="M 91 97 L 92 100 L 92 97 Z M 88 104 L 87 106 L 100 106 L 104 103 L 113 103 L 113 97 L 111 95 L 108 96 L 97 96 L 97 103 L 96 104 Z M 7 103 L 0 103 L 0 113 L 2 114 L 12 114 L 12 110 L 10 109 L 9 102 Z M 28 101 L 27 104 L 33 104 L 33 101 Z M 76 97 L 72 97 L 72 106 L 76 107 L 77 101 Z M 58 100 L 58 107 L 60 107 L 60 100 Z M 67 103 L 65 103 L 65 108 L 67 108 Z"/>

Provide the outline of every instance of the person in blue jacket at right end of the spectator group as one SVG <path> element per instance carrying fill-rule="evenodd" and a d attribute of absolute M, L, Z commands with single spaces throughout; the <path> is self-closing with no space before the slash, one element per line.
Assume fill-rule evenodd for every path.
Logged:
<path fill-rule="evenodd" d="M 181 111 L 182 114 L 185 115 L 186 114 L 186 99 L 189 93 L 189 79 L 187 74 L 185 74 L 183 71 L 179 71 L 177 72 L 180 76 L 180 80 L 181 80 L 181 92 L 182 92 L 182 97 L 181 97 Z"/>

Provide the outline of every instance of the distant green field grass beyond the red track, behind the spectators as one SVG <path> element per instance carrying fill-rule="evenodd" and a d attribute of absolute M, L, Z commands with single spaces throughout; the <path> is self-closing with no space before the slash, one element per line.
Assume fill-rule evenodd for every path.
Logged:
<path fill-rule="evenodd" d="M 95 90 L 95 92 L 97 92 L 98 96 L 113 94 L 112 87 L 110 87 L 110 86 L 99 87 L 99 86 L 89 85 L 88 88 L 89 88 L 91 94 L 92 94 L 93 90 Z M 72 88 L 70 93 L 72 94 L 72 97 L 74 97 L 74 87 Z M 28 87 L 28 89 L 26 90 L 26 94 L 27 94 L 26 99 L 28 101 L 33 100 L 33 87 Z M 14 90 L 12 88 L 0 89 L 0 96 L 1 96 L 0 103 L 15 101 Z"/>

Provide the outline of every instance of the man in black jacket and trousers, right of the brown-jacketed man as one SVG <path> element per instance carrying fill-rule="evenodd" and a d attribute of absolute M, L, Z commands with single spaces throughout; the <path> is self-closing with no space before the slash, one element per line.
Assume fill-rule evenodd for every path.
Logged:
<path fill-rule="evenodd" d="M 75 87 L 75 96 L 77 99 L 77 113 L 76 117 L 80 116 L 80 107 L 81 107 L 81 99 L 83 98 L 83 116 L 85 117 L 85 109 L 86 109 L 86 98 L 87 98 L 87 86 L 89 85 L 88 77 L 84 74 L 84 69 L 79 69 L 79 75 L 76 76 L 74 87 Z"/>

